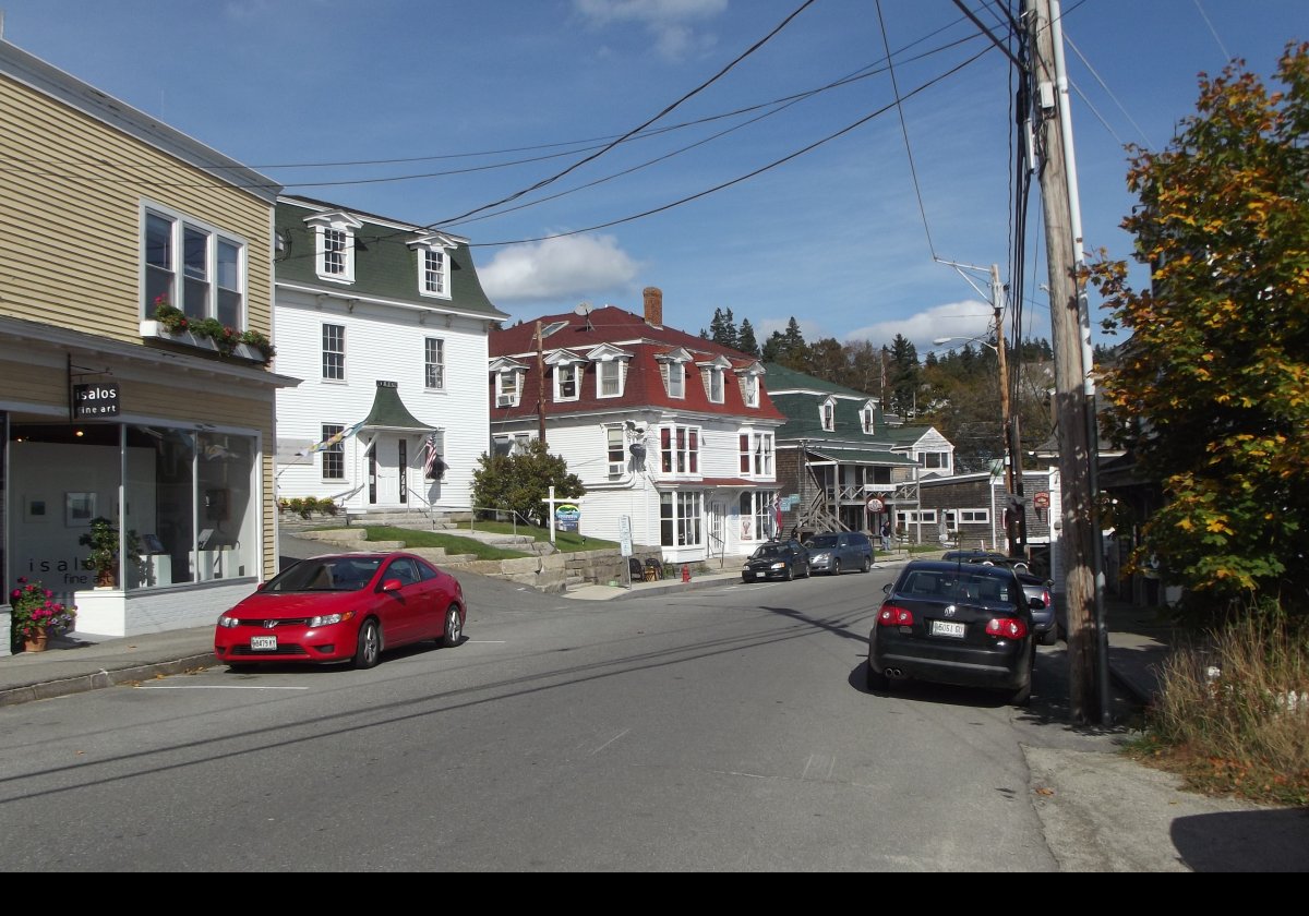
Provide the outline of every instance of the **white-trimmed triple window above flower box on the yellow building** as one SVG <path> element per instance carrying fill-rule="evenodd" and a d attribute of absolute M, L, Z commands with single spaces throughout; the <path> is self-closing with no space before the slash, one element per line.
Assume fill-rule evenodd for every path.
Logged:
<path fill-rule="evenodd" d="M 151 204 L 143 213 L 141 317 L 166 302 L 187 318 L 246 330 L 246 245 L 199 220 Z"/>

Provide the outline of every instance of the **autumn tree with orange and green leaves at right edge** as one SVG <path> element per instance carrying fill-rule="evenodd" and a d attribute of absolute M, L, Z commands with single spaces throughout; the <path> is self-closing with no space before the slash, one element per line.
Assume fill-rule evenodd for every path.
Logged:
<path fill-rule="evenodd" d="M 1122 225 L 1152 288 L 1103 254 L 1088 275 L 1131 335 L 1106 425 L 1164 495 L 1134 561 L 1210 616 L 1309 614 L 1309 44 L 1275 79 L 1200 75 L 1169 148 L 1130 149 Z"/>

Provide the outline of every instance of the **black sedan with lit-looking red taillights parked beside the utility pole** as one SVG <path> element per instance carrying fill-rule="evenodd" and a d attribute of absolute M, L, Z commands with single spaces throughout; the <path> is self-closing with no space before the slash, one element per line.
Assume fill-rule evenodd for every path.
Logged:
<path fill-rule="evenodd" d="M 868 688 L 920 679 L 1031 696 L 1034 603 L 1007 567 L 911 560 L 885 588 L 868 639 Z"/>

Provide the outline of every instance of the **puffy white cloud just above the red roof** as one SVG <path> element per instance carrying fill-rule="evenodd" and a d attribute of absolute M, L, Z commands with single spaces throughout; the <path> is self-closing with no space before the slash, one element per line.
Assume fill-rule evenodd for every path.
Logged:
<path fill-rule="evenodd" d="M 640 268 L 613 236 L 567 236 L 509 246 L 478 276 L 496 304 L 580 301 L 627 287 Z"/>

